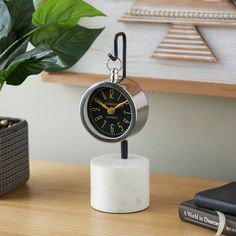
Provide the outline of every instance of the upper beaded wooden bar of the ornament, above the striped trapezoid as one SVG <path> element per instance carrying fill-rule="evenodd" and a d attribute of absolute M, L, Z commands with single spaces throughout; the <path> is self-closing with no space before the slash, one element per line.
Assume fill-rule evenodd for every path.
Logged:
<path fill-rule="evenodd" d="M 236 9 L 230 0 L 137 0 L 121 21 L 235 26 Z"/>

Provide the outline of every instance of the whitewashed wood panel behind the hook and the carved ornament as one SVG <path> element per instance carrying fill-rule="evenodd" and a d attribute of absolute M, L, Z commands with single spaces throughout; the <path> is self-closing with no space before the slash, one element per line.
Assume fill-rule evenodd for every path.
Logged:
<path fill-rule="evenodd" d="M 107 73 L 105 62 L 107 53 L 113 50 L 113 37 L 124 31 L 128 40 L 127 74 L 130 76 L 236 84 L 236 28 L 198 27 L 219 63 L 156 59 L 151 55 L 170 29 L 169 24 L 118 22 L 135 0 L 87 2 L 101 9 L 107 17 L 83 19 L 80 23 L 88 27 L 105 26 L 105 30 L 72 71 Z"/>

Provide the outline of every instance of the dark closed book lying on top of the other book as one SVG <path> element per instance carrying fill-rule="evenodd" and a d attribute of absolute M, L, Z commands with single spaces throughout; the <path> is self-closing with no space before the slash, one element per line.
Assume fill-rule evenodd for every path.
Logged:
<path fill-rule="evenodd" d="M 236 182 L 198 192 L 195 205 L 236 216 Z"/>

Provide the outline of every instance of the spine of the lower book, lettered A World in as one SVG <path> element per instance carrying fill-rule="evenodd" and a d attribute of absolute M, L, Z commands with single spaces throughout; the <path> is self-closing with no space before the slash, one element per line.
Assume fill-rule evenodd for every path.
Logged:
<path fill-rule="evenodd" d="M 195 224 L 210 230 L 217 231 L 219 226 L 219 217 L 217 214 L 211 214 L 200 209 L 191 208 L 186 205 L 179 206 L 179 217 L 181 220 Z M 223 233 L 225 235 L 236 235 L 236 222 L 227 218 Z"/>

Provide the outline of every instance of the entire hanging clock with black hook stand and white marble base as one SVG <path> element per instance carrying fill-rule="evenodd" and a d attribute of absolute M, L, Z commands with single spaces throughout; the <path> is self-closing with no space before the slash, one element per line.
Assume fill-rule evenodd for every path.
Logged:
<path fill-rule="evenodd" d="M 118 56 L 120 36 L 122 61 Z M 80 116 L 87 131 L 101 141 L 121 144 L 121 155 L 102 155 L 90 162 L 91 206 L 119 214 L 141 211 L 150 204 L 149 161 L 142 156 L 128 155 L 127 138 L 144 127 L 148 101 L 140 86 L 126 77 L 126 48 L 125 33 L 117 33 L 114 55 L 108 54 L 106 64 L 110 78 L 88 88 L 80 102 Z"/>

